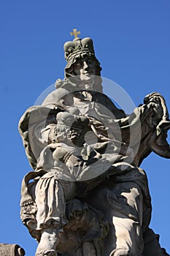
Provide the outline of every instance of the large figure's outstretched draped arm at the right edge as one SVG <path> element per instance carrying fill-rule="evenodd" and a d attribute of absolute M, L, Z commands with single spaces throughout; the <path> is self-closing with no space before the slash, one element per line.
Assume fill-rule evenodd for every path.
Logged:
<path fill-rule="evenodd" d="M 134 165 L 139 166 L 152 151 L 170 158 L 167 132 L 170 128 L 165 99 L 153 92 L 144 97 L 144 104 L 134 113 L 119 120 L 124 143 L 134 150 Z"/>

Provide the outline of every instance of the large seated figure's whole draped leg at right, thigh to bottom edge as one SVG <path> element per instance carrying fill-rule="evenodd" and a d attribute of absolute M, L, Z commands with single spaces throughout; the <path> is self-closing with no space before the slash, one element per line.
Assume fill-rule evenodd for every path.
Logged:
<path fill-rule="evenodd" d="M 87 202 L 109 221 L 102 256 L 142 256 L 142 229 L 148 227 L 151 211 L 147 178 L 142 170 L 120 170 L 120 175 L 111 176 L 89 192 Z"/>

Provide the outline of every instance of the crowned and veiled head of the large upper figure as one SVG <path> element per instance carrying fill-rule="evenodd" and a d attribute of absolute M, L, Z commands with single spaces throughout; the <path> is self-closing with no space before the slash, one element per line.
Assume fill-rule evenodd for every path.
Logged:
<path fill-rule="evenodd" d="M 86 89 L 89 85 L 89 89 L 101 91 L 101 67 L 94 53 L 92 39 L 77 37 L 66 42 L 63 48 L 67 61 L 65 79 L 82 86 L 84 84 Z"/>

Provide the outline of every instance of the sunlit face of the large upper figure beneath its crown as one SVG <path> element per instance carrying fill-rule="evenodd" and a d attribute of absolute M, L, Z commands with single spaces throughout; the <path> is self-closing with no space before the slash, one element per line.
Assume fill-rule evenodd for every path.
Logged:
<path fill-rule="evenodd" d="M 74 63 L 74 74 L 80 76 L 80 80 L 84 84 L 94 83 L 96 75 L 96 63 L 90 57 L 80 59 Z"/>

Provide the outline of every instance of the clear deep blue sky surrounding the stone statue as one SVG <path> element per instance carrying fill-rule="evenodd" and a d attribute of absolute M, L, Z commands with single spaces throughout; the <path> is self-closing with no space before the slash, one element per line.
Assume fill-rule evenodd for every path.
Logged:
<path fill-rule="evenodd" d="M 20 244 L 34 256 L 36 241 L 20 222 L 20 184 L 31 170 L 18 134 L 20 116 L 63 78 L 63 43 L 74 28 L 93 38 L 102 76 L 122 86 L 135 105 L 158 91 L 170 109 L 170 0 L 6 0 L 0 12 L 0 242 Z M 170 253 L 170 160 L 152 153 L 142 167 L 152 196 L 150 227 Z"/>

